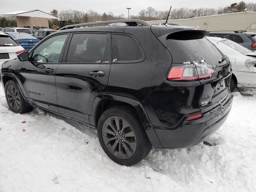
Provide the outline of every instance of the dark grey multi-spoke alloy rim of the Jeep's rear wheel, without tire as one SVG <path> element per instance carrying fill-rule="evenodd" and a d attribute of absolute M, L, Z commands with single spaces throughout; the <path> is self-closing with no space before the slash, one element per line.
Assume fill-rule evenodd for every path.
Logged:
<path fill-rule="evenodd" d="M 134 130 L 124 118 L 119 116 L 111 116 L 105 120 L 102 138 L 105 146 L 117 158 L 128 159 L 136 151 Z"/>

